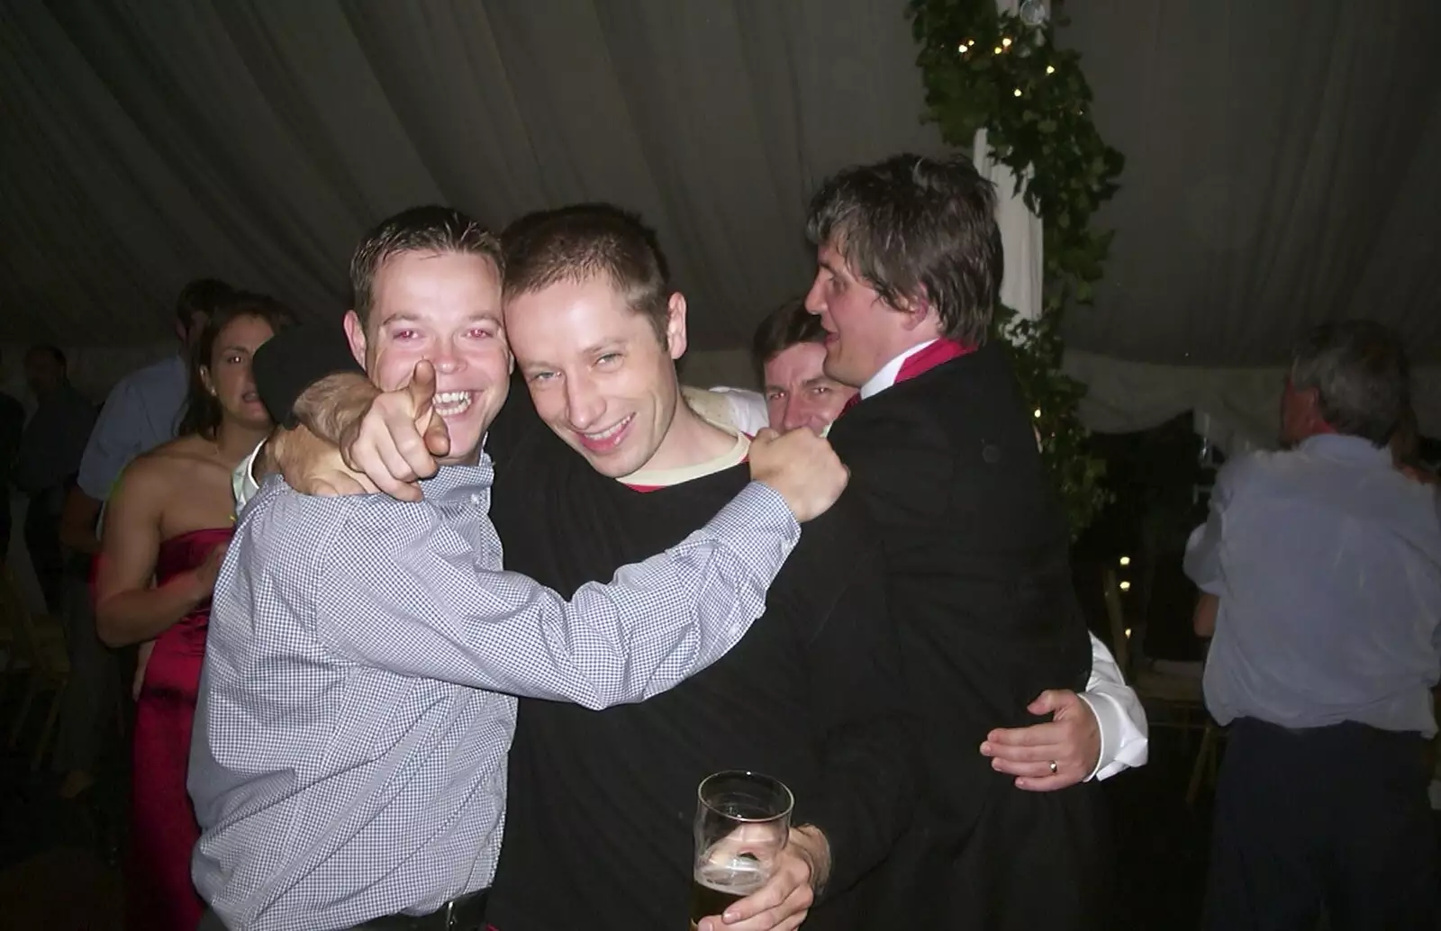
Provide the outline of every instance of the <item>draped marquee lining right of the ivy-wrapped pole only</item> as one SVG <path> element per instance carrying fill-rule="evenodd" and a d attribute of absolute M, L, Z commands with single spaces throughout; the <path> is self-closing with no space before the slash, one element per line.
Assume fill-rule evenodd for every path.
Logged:
<path fill-rule="evenodd" d="M 1268 444 L 1287 347 L 1327 318 L 1395 326 L 1441 435 L 1441 3 L 1087 0 L 1101 134 L 1127 159 L 1117 231 L 1068 369 L 1101 429 L 1206 414 Z"/>

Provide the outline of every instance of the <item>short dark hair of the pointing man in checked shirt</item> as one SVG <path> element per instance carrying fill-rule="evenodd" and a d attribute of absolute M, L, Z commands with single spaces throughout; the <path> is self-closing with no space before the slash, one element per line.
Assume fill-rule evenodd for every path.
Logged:
<path fill-rule="evenodd" d="M 435 205 L 401 210 L 376 223 L 350 258 L 350 307 L 362 326 L 370 321 L 376 275 L 402 252 L 484 255 L 497 275 L 506 270 L 496 235 L 460 210 Z"/>

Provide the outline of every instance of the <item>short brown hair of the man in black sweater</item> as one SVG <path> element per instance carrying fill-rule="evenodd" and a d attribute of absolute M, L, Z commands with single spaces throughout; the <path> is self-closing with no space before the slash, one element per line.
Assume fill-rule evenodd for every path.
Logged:
<path fill-rule="evenodd" d="M 650 320 L 656 339 L 666 344 L 670 267 L 656 231 L 638 213 L 611 203 L 579 203 L 522 216 L 501 239 L 507 301 L 562 281 L 601 277 Z"/>

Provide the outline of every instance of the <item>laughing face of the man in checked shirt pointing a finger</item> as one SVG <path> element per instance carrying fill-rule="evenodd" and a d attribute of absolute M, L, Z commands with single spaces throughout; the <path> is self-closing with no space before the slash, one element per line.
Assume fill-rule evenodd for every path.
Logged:
<path fill-rule="evenodd" d="M 496 264 L 470 252 L 399 252 L 380 265 L 372 288 L 367 324 L 353 310 L 346 314 L 356 360 L 376 386 L 393 391 L 428 359 L 435 412 L 451 441 L 441 463 L 474 463 L 510 388 Z"/>

